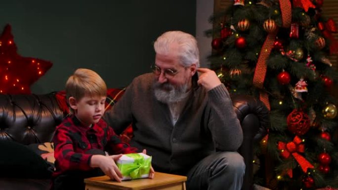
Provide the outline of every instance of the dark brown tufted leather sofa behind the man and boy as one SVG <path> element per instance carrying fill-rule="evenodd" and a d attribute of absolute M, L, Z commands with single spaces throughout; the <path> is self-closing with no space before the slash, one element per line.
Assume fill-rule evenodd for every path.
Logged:
<path fill-rule="evenodd" d="M 238 150 L 246 163 L 242 189 L 253 190 L 253 146 L 266 135 L 269 114 L 262 102 L 251 96 L 235 95 L 232 101 L 244 132 L 244 141 Z M 15 141 L 23 145 L 50 142 L 55 127 L 63 117 L 64 113 L 58 106 L 55 93 L 0 94 L 0 142 Z M 0 156 L 3 153 L 5 152 L 0 152 Z M 20 156 L 20 153 L 17 156 Z M 41 179 L 2 176 L 0 177 L 0 189 L 48 190 L 49 181 L 48 176 Z"/>

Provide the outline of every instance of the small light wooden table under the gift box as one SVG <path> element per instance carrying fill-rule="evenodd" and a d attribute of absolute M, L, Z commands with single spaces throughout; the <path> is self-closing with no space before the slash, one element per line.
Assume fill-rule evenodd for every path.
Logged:
<path fill-rule="evenodd" d="M 136 179 L 121 183 L 108 176 L 84 179 L 85 190 L 185 190 L 187 177 L 156 172 L 154 179 Z"/>

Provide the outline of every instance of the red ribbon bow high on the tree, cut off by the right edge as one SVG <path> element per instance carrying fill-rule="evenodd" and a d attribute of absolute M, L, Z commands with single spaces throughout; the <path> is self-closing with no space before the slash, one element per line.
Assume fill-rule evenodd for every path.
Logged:
<path fill-rule="evenodd" d="M 338 52 L 338 42 L 332 33 L 337 33 L 337 27 L 335 21 L 332 18 L 329 18 L 326 23 L 319 22 L 318 23 L 319 30 L 322 31 L 325 38 L 329 38 L 331 40 L 330 44 L 330 53 L 337 53 Z"/>

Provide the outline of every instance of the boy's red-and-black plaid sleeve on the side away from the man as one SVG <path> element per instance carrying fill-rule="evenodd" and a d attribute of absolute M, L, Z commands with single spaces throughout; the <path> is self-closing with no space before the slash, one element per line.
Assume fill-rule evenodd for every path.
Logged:
<path fill-rule="evenodd" d="M 69 127 L 59 125 L 56 129 L 54 138 L 54 157 L 55 166 L 60 173 L 68 170 L 90 170 L 91 154 L 74 152 L 73 141 L 70 138 Z"/>

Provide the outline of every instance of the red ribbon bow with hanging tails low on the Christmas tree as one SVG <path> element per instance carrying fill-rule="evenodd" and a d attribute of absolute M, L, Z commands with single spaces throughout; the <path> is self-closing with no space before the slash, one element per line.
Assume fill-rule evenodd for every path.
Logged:
<path fill-rule="evenodd" d="M 296 136 L 294 140 L 289 143 L 279 141 L 278 150 L 281 151 L 281 156 L 285 159 L 289 158 L 290 155 L 293 155 L 304 173 L 306 172 L 307 168 L 314 168 L 314 166 L 309 161 L 307 161 L 302 155 L 298 153 L 305 152 L 305 147 L 303 144 L 301 144 L 301 139 L 298 136 Z M 292 178 L 293 174 L 291 168 L 287 173 L 290 178 Z"/>

